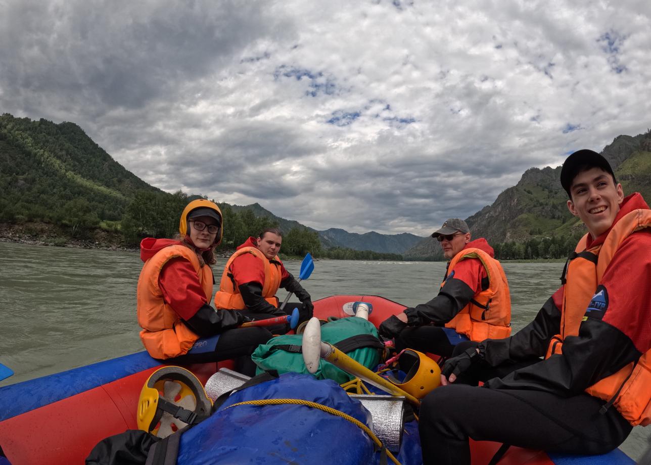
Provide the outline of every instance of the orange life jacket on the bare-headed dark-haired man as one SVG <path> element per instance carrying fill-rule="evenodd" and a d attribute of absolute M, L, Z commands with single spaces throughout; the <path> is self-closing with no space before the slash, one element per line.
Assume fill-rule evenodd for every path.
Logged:
<path fill-rule="evenodd" d="M 232 262 L 245 253 L 252 253 L 264 264 L 262 297 L 264 297 L 264 300 L 271 303 L 271 305 L 277 307 L 278 298 L 276 297 L 276 292 L 278 292 L 278 288 L 281 285 L 281 259 L 277 256 L 274 257 L 273 260 L 279 264 L 272 264 L 269 259 L 264 256 L 264 253 L 256 247 L 242 247 L 230 256 L 229 261 L 226 262 L 226 266 L 224 266 L 224 272 L 221 274 L 219 290 L 215 293 L 215 307 L 227 310 L 242 310 L 246 308 L 244 300 L 242 299 L 242 294 L 240 294 L 240 289 L 238 289 L 238 285 L 235 283 L 232 270 L 230 269 Z"/>

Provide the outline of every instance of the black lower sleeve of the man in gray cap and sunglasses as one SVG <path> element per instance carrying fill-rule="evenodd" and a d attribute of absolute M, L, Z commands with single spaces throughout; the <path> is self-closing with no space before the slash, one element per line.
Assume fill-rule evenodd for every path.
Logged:
<path fill-rule="evenodd" d="M 461 279 L 447 279 L 439 294 L 430 302 L 405 309 L 407 324 L 421 326 L 434 323 L 443 326 L 462 311 L 474 296 L 475 290 Z"/>

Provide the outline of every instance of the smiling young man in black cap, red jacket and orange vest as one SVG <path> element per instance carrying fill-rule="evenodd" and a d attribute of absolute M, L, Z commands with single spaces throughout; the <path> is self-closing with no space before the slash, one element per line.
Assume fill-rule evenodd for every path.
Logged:
<path fill-rule="evenodd" d="M 424 464 L 469 464 L 468 438 L 607 453 L 651 421 L 651 210 L 592 150 L 567 158 L 561 185 L 588 230 L 561 288 L 518 333 L 445 363 L 444 386 L 421 406 Z M 518 365 L 531 358 L 543 359 Z M 482 387 L 455 382 L 509 365 Z"/>

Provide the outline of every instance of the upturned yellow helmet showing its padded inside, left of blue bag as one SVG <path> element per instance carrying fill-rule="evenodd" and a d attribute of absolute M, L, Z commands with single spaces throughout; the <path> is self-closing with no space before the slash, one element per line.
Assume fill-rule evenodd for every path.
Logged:
<path fill-rule="evenodd" d="M 165 438 L 186 425 L 210 416 L 212 401 L 197 376 L 182 367 L 152 373 L 140 391 L 138 429 Z"/>

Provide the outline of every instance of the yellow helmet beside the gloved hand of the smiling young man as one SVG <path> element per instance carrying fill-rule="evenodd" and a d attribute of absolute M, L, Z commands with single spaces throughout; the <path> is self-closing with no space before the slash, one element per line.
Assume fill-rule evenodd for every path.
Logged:
<path fill-rule="evenodd" d="M 400 355 L 398 365 L 407 376 L 402 384 L 395 383 L 396 386 L 416 399 L 422 399 L 441 384 L 441 367 L 417 350 L 406 349 Z"/>

